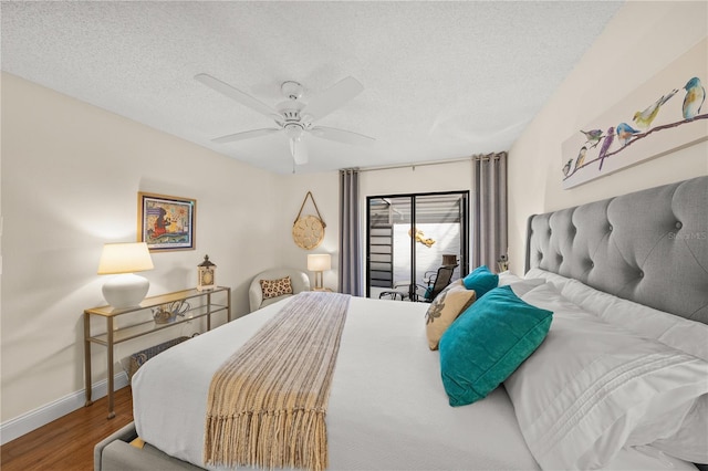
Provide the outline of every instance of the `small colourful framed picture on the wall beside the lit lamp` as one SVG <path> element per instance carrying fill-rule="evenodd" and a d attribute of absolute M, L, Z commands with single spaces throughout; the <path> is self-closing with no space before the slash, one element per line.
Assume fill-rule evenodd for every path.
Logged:
<path fill-rule="evenodd" d="M 197 200 L 137 193 L 138 241 L 150 251 L 194 250 Z"/>

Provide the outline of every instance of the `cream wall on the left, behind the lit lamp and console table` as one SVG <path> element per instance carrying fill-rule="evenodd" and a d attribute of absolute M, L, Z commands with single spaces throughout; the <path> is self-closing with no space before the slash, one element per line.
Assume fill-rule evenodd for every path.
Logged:
<path fill-rule="evenodd" d="M 149 294 L 195 286 L 208 253 L 239 316 L 251 278 L 282 258 L 283 179 L 2 74 L 2 422 L 83 390 L 82 313 L 105 304 L 103 243 L 136 239 L 138 191 L 197 199 L 197 249 L 153 254 Z M 105 348 L 93 352 L 98 381 Z"/>

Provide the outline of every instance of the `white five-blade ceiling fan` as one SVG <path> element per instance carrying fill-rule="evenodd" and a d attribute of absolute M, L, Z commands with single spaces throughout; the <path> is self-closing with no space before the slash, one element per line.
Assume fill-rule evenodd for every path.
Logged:
<path fill-rule="evenodd" d="M 303 92 L 301 84 L 292 81 L 283 82 L 280 90 L 287 100 L 275 105 L 274 108 L 211 75 L 197 74 L 195 80 L 274 119 L 278 125 L 278 127 L 252 129 L 217 137 L 212 139 L 215 143 L 232 143 L 282 132 L 290 139 L 290 153 L 293 160 L 296 165 L 303 165 L 308 163 L 308 149 L 303 143 L 305 133 L 323 139 L 354 145 L 373 144 L 375 140 L 373 137 L 351 130 L 314 125 L 315 121 L 323 118 L 362 93 L 364 86 L 356 78 L 346 77 L 337 82 L 323 93 L 313 96 L 309 103 L 301 101 Z"/>

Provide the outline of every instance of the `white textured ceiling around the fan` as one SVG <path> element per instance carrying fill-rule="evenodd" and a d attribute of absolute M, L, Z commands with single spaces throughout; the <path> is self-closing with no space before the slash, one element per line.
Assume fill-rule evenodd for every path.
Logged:
<path fill-rule="evenodd" d="M 293 171 L 273 122 L 194 80 L 208 73 L 269 106 L 346 76 L 364 92 L 316 124 L 298 172 L 507 150 L 621 2 L 2 2 L 2 70 L 271 171 Z"/>

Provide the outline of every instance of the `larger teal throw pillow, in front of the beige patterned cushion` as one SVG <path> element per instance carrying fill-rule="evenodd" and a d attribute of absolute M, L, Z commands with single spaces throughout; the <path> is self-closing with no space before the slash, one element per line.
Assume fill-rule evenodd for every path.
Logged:
<path fill-rule="evenodd" d="M 511 286 L 477 300 L 440 338 L 442 386 L 450 406 L 487 397 L 549 333 L 553 313 L 521 301 Z"/>

